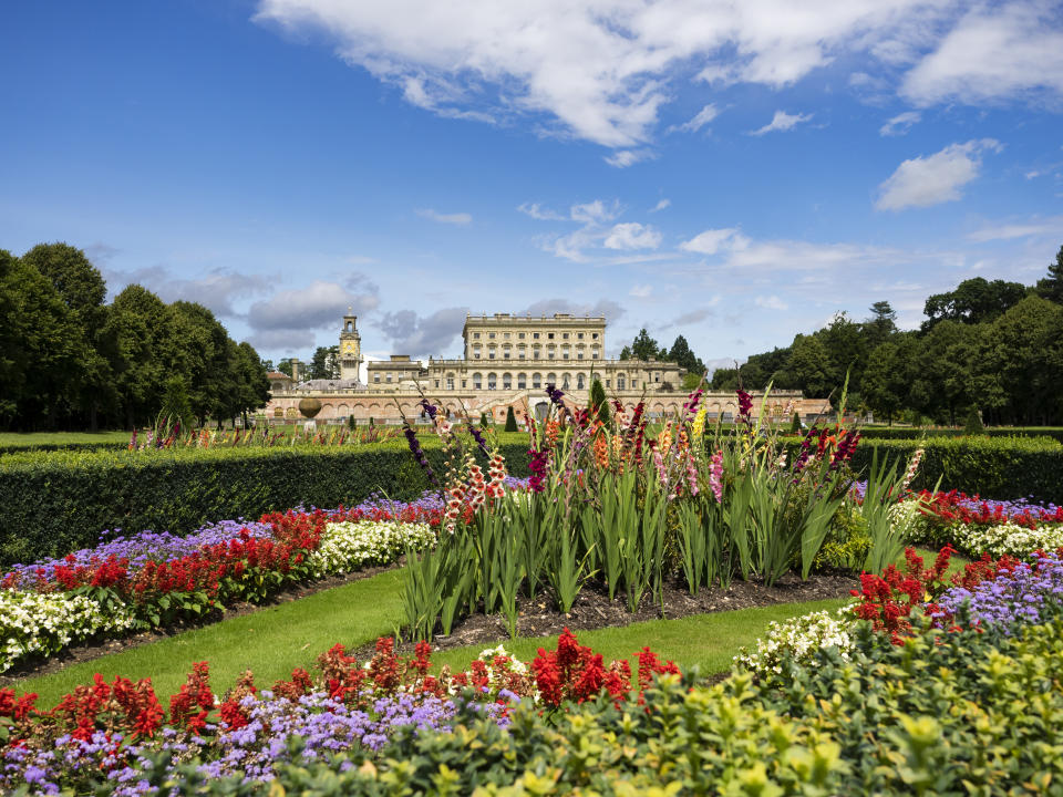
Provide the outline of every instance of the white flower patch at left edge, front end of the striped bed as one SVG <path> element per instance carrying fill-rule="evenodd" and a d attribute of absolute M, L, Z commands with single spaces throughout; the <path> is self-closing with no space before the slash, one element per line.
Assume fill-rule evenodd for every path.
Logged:
<path fill-rule="evenodd" d="M 87 596 L 0 590 L 0 672 L 31 655 L 51 655 L 101 632 L 125 631 L 133 614 L 110 614 Z"/>

